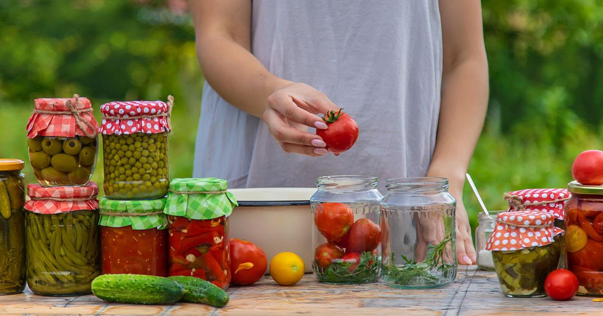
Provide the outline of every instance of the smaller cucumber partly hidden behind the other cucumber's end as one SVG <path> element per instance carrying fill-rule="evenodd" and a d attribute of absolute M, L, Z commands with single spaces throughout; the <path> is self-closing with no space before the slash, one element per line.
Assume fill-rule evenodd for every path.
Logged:
<path fill-rule="evenodd" d="M 185 287 L 185 296 L 182 297 L 185 302 L 203 303 L 215 307 L 228 304 L 228 294 L 206 280 L 192 276 L 170 276 L 168 279 L 175 280 Z"/>

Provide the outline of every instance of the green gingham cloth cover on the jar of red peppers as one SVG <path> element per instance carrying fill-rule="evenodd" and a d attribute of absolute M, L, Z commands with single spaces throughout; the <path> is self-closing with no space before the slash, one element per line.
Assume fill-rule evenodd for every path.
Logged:
<path fill-rule="evenodd" d="M 209 220 L 229 216 L 238 206 L 232 193 L 180 194 L 178 192 L 219 192 L 228 187 L 228 182 L 218 178 L 182 178 L 169 182 L 168 202 L 165 214 L 184 216 L 193 220 Z"/>

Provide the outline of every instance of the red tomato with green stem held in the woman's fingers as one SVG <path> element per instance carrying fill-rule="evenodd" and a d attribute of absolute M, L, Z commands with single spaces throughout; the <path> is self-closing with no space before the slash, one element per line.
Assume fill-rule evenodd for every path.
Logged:
<path fill-rule="evenodd" d="M 323 117 L 327 129 L 317 129 L 316 134 L 323 138 L 327 143 L 327 150 L 339 156 L 339 153 L 345 152 L 354 146 L 358 139 L 358 125 L 356 122 L 343 113 L 341 109 L 335 113 L 330 111 Z"/>

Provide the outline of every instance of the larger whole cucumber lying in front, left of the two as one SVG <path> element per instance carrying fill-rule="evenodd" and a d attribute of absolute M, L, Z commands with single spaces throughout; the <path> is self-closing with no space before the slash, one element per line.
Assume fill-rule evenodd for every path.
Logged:
<path fill-rule="evenodd" d="M 172 304 L 185 288 L 175 280 L 140 274 L 104 274 L 92 281 L 92 293 L 101 300 L 132 304 Z"/>

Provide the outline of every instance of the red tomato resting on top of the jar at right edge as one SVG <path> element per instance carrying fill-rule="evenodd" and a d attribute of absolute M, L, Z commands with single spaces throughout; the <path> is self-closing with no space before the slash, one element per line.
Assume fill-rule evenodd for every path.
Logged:
<path fill-rule="evenodd" d="M 603 185 L 603 152 L 586 150 L 573 161 L 572 175 L 584 185 Z"/>

